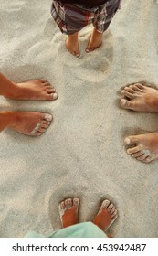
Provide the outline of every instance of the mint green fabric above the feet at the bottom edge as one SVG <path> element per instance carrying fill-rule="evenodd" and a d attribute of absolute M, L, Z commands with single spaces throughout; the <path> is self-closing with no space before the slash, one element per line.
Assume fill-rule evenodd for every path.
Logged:
<path fill-rule="evenodd" d="M 83 222 L 65 229 L 58 229 L 47 236 L 31 231 L 26 234 L 26 238 L 107 238 L 107 236 L 92 222 Z"/>

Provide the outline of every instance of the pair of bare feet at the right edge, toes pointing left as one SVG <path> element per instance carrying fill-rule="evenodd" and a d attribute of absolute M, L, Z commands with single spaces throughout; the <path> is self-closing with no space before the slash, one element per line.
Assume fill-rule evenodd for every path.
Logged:
<path fill-rule="evenodd" d="M 158 90 L 135 83 L 122 91 L 121 107 L 135 112 L 158 112 Z M 143 163 L 158 158 L 158 132 L 128 136 L 124 140 L 127 154 Z"/>

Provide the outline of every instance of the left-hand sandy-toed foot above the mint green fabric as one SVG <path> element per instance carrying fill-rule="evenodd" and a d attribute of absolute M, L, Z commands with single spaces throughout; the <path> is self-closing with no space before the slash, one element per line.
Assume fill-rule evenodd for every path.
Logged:
<path fill-rule="evenodd" d="M 62 228 L 78 223 L 79 198 L 68 198 L 58 205 Z"/>

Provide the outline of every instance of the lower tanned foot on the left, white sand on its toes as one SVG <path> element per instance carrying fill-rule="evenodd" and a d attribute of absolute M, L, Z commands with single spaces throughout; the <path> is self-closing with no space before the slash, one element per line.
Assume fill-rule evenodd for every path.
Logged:
<path fill-rule="evenodd" d="M 40 136 L 46 132 L 52 116 L 42 112 L 6 112 L 4 120 L 7 123 L 4 128 L 30 136 Z"/>

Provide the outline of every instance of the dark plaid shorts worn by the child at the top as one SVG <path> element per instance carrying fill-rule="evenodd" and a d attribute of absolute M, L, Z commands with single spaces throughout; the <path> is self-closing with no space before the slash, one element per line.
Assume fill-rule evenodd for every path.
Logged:
<path fill-rule="evenodd" d="M 109 27 L 120 4 L 121 0 L 109 0 L 104 5 L 86 8 L 82 5 L 53 1 L 51 15 L 64 34 L 72 35 L 90 23 L 97 31 L 103 33 Z"/>

